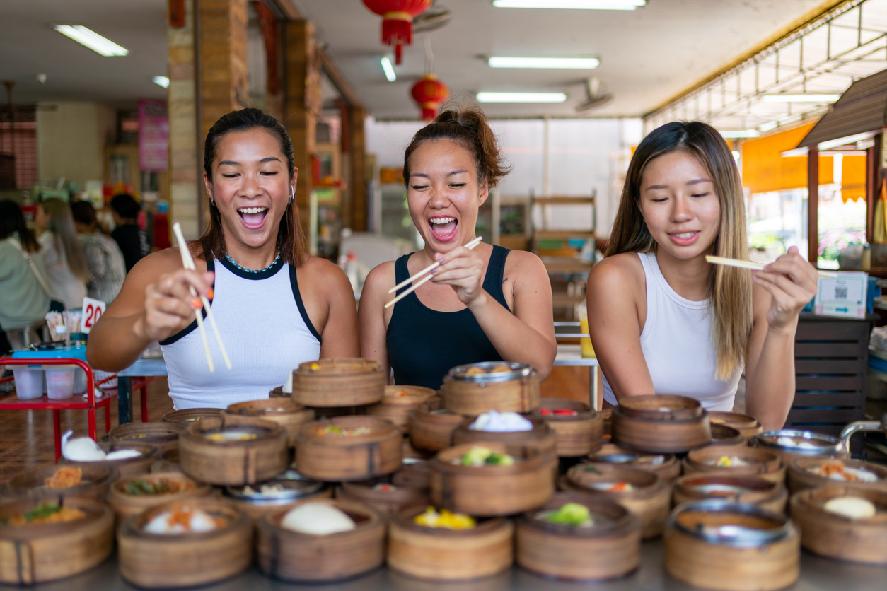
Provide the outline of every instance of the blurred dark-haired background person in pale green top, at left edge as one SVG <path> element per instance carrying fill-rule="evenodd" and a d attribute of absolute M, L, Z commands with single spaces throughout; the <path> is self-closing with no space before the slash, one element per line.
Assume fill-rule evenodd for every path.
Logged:
<path fill-rule="evenodd" d="M 12 349 L 5 330 L 42 323 L 49 311 L 49 277 L 40 245 L 18 204 L 0 200 L 0 354 Z"/>

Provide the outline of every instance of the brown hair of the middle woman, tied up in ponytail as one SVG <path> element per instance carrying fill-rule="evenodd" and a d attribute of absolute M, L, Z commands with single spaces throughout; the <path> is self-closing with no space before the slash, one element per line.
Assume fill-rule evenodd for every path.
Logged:
<path fill-rule="evenodd" d="M 477 167 L 477 181 L 486 181 L 495 187 L 499 180 L 511 171 L 502 157 L 496 134 L 487 122 L 481 107 L 474 103 L 448 103 L 435 121 L 412 136 L 412 142 L 404 152 L 404 184 L 410 182 L 410 157 L 422 143 L 428 140 L 448 139 L 471 152 Z"/>

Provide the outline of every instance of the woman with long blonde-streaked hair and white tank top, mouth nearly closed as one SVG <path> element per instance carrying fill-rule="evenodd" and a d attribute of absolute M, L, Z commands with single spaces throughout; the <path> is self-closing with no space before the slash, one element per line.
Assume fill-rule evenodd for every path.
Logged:
<path fill-rule="evenodd" d="M 729 411 L 744 369 L 746 412 L 779 429 L 816 269 L 794 246 L 762 271 L 710 265 L 707 254 L 749 258 L 739 171 L 716 129 L 668 123 L 634 152 L 607 258 L 588 276 L 604 400 L 683 394 Z"/>

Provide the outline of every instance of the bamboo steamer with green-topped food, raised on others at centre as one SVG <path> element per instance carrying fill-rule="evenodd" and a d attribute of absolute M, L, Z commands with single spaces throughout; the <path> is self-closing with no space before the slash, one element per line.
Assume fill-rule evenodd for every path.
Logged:
<path fill-rule="evenodd" d="M 511 466 L 454 464 L 474 447 L 514 457 Z M 449 447 L 431 460 L 431 501 L 458 513 L 478 517 L 512 515 L 541 507 L 554 494 L 555 456 L 538 449 L 498 441 Z"/>

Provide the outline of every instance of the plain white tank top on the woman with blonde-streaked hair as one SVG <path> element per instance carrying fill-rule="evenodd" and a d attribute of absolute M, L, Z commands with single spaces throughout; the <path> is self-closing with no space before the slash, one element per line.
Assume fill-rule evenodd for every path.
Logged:
<path fill-rule="evenodd" d="M 657 394 L 680 394 L 708 410 L 733 409 L 742 368 L 726 381 L 716 375 L 717 354 L 711 340 L 709 300 L 682 298 L 665 281 L 655 253 L 638 253 L 647 284 L 647 321 L 640 348 Z M 604 400 L 618 404 L 604 377 Z"/>

